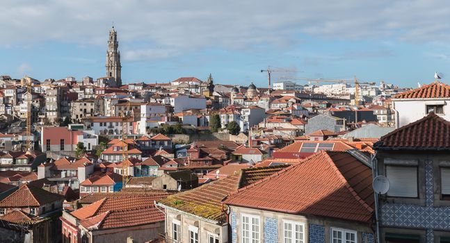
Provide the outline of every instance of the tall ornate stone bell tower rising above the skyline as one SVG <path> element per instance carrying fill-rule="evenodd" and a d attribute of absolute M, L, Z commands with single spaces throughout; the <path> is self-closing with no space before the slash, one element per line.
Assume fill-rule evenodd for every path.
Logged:
<path fill-rule="evenodd" d="M 109 31 L 108 51 L 106 51 L 106 76 L 115 78 L 115 83 L 117 83 L 118 87 L 122 85 L 121 69 L 117 31 L 115 31 L 113 26 L 111 31 Z"/>

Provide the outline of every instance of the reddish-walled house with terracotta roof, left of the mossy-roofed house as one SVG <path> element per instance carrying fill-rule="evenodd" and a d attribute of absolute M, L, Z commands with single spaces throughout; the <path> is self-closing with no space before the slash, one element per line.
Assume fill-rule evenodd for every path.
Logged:
<path fill-rule="evenodd" d="M 161 195 L 102 194 L 88 206 L 64 211 L 62 221 L 65 242 L 127 242 L 156 240 L 164 232 L 164 214 L 154 206 Z"/>

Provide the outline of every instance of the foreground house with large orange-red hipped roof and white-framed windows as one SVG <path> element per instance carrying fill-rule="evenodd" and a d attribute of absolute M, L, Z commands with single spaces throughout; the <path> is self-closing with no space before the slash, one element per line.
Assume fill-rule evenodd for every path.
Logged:
<path fill-rule="evenodd" d="M 373 242 L 371 183 L 351 154 L 316 153 L 227 196 L 232 242 Z"/>

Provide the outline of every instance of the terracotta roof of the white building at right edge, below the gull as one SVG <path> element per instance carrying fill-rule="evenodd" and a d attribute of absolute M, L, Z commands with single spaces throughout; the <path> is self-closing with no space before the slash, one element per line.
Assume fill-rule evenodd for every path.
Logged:
<path fill-rule="evenodd" d="M 394 99 L 429 99 L 429 98 L 449 98 L 450 86 L 435 81 L 429 85 L 424 85 L 414 90 L 409 90 L 401 94 L 396 94 Z"/>

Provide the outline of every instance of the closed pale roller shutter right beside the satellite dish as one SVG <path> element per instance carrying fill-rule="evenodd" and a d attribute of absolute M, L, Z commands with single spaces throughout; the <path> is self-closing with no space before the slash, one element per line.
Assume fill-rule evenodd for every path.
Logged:
<path fill-rule="evenodd" d="M 387 196 L 417 197 L 417 167 L 386 166 Z"/>

